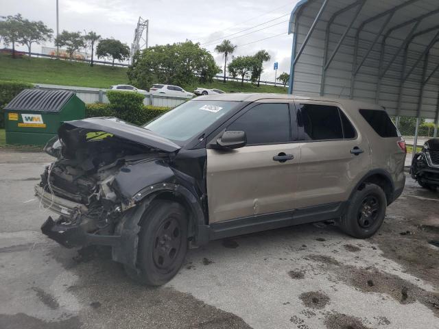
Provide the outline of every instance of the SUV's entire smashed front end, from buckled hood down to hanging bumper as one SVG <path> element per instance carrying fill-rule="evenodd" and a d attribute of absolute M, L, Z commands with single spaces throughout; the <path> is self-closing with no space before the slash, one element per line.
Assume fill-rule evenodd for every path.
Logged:
<path fill-rule="evenodd" d="M 168 164 L 179 148 L 117 119 L 64 123 L 58 138 L 45 146 L 58 160 L 46 167 L 35 186 L 40 206 L 59 215 L 47 219 L 43 233 L 66 247 L 86 244 L 90 234 L 113 235 L 143 188 L 156 178 L 163 184 L 175 182 Z"/>

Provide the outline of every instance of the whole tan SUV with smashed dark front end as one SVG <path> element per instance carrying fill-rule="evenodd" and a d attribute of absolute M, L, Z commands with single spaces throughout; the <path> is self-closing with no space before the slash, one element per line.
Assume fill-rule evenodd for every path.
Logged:
<path fill-rule="evenodd" d="M 203 96 L 144 127 L 66 122 L 45 149 L 57 160 L 35 191 L 59 217 L 43 233 L 108 245 L 152 285 L 176 275 L 188 245 L 228 236 L 329 219 L 372 236 L 405 182 L 388 114 L 344 99 Z"/>

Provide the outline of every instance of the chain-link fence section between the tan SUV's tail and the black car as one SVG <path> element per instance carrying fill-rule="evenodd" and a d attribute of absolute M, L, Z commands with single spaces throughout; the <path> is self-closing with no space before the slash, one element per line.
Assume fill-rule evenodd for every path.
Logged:
<path fill-rule="evenodd" d="M 392 117 L 399 132 L 405 139 L 407 154 L 413 154 L 413 147 L 416 143 L 416 151 L 420 151 L 422 146 L 430 138 L 438 136 L 438 125 L 433 120 L 416 117 Z"/>

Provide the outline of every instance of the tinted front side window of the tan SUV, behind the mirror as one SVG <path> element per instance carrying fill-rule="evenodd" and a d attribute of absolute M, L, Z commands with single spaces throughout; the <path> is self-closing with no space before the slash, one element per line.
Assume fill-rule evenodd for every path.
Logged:
<path fill-rule="evenodd" d="M 241 115 L 227 130 L 246 132 L 247 143 L 270 144 L 290 141 L 289 108 L 286 103 L 263 103 Z"/>

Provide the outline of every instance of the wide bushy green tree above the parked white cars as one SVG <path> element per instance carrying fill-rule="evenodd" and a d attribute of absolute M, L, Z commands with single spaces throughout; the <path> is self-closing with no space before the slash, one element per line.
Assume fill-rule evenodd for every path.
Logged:
<path fill-rule="evenodd" d="M 128 78 L 140 88 L 156 83 L 187 86 L 198 80 L 212 81 L 220 71 L 209 51 L 187 40 L 139 51 L 128 69 Z"/>

